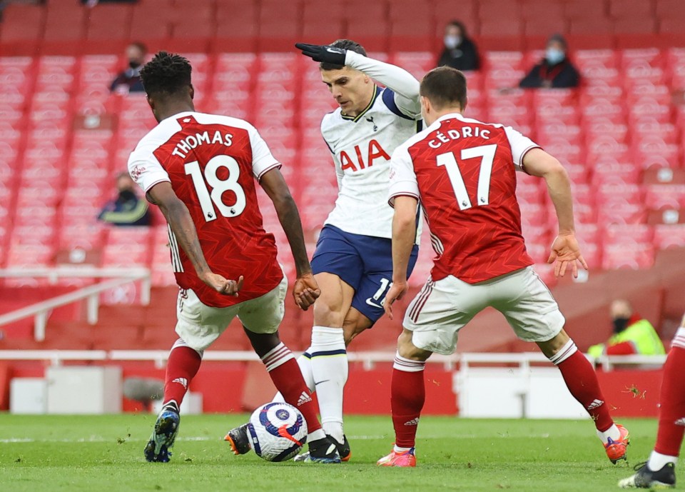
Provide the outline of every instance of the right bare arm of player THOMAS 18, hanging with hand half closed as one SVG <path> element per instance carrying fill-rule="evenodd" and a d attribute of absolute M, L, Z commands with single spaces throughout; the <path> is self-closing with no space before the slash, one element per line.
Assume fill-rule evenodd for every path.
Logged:
<path fill-rule="evenodd" d="M 298 276 L 293 288 L 295 303 L 304 311 L 307 311 L 309 306 L 320 296 L 321 289 L 314 280 L 312 267 L 307 257 L 307 248 L 305 248 L 305 238 L 298 206 L 295 204 L 293 196 L 290 195 L 288 184 L 285 183 L 283 174 L 280 174 L 278 168 L 271 169 L 263 174 L 259 184 L 266 191 L 271 201 L 273 201 L 273 206 L 278 214 L 278 221 L 283 226 L 285 236 L 288 238 L 288 244 L 290 244 L 290 251 L 292 251 L 293 259 L 295 259 L 295 271 L 297 271 Z"/>

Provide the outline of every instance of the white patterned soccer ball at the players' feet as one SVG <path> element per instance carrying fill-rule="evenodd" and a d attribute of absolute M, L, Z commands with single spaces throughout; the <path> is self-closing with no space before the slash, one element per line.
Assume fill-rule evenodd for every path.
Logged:
<path fill-rule="evenodd" d="M 307 442 L 307 422 L 288 403 L 267 403 L 257 408 L 248 422 L 250 445 L 266 461 L 285 461 Z"/>

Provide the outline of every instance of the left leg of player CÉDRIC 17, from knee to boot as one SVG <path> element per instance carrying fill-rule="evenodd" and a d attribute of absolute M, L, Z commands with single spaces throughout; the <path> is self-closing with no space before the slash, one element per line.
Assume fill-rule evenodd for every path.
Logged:
<path fill-rule="evenodd" d="M 416 431 L 426 399 L 423 370 L 431 353 L 415 346 L 412 332 L 402 329 L 397 338 L 390 389 L 395 446 L 390 454 L 377 461 L 379 466 L 416 466 Z"/>

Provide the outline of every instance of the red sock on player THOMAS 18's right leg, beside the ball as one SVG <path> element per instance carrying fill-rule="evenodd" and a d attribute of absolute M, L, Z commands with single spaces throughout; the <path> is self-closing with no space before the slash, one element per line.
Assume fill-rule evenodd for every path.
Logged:
<path fill-rule="evenodd" d="M 283 399 L 302 412 L 307 421 L 308 433 L 318 431 L 321 424 L 316 416 L 317 408 L 302 377 L 298 361 L 295 361 L 295 356 L 290 349 L 283 343 L 279 343 L 262 357 L 262 362 L 269 371 L 276 389 L 283 395 Z"/>

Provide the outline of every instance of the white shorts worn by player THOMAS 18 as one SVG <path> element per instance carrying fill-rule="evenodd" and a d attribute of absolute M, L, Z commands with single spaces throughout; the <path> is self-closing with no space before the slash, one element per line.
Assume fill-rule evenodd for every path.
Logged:
<path fill-rule="evenodd" d="M 288 278 L 284 275 L 278 286 L 263 296 L 228 308 L 213 308 L 203 304 L 191 289 L 181 289 L 176 304 L 176 333 L 196 351 L 214 343 L 235 316 L 253 333 L 275 333 L 285 314 L 286 291 Z"/>

